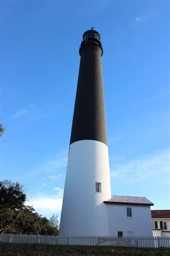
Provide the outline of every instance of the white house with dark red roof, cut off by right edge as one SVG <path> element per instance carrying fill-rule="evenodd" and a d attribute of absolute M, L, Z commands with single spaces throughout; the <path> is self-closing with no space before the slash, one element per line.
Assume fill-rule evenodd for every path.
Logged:
<path fill-rule="evenodd" d="M 170 237 L 170 210 L 151 210 L 154 237 Z"/>

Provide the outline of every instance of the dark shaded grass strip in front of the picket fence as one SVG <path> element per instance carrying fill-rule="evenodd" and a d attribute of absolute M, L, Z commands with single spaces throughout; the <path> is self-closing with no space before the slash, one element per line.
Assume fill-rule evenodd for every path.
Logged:
<path fill-rule="evenodd" d="M 0 243 L 0 256 L 129 255 L 170 256 L 170 248 L 128 248 L 113 246 L 69 246 L 49 244 Z"/>

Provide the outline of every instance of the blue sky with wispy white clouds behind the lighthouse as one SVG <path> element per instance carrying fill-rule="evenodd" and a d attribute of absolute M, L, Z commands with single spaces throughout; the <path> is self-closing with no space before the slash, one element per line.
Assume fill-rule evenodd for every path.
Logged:
<path fill-rule="evenodd" d="M 169 209 L 169 1 L 1 1 L 0 178 L 25 184 L 43 216 L 60 216 L 91 26 L 104 49 L 112 194 Z"/>

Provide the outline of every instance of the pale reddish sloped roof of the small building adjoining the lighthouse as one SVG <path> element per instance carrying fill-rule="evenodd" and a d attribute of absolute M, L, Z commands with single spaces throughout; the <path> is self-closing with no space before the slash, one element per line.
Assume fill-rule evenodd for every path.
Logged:
<path fill-rule="evenodd" d="M 129 205 L 154 205 L 146 197 L 112 196 L 104 203 L 120 203 Z"/>

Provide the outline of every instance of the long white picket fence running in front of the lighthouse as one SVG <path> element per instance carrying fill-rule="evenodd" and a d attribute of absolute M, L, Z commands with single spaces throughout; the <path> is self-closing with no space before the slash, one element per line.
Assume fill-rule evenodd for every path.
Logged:
<path fill-rule="evenodd" d="M 170 248 L 170 237 L 99 237 L 1 234 L 0 242 Z"/>

